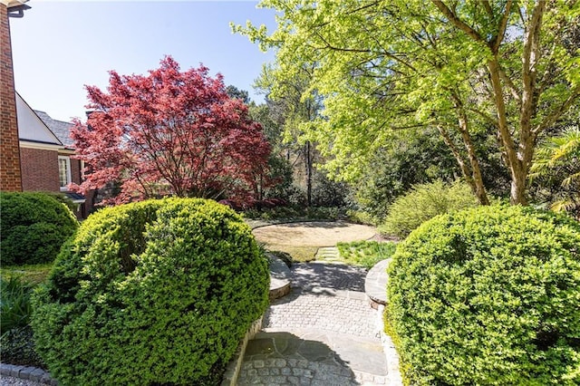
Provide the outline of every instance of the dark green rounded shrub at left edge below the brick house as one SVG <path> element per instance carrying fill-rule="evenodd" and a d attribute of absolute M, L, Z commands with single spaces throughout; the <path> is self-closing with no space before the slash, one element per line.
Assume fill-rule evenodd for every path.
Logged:
<path fill-rule="evenodd" d="M 49 263 L 79 223 L 50 194 L 0 193 L 0 261 L 3 265 Z"/>

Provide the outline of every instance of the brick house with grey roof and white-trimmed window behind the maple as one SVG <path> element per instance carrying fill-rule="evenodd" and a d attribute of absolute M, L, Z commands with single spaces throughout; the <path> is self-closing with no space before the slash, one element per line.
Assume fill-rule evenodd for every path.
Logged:
<path fill-rule="evenodd" d="M 73 124 L 34 111 L 18 93 L 15 95 L 23 190 L 61 192 L 78 205 L 76 216 L 86 218 L 92 212 L 92 194 L 87 200 L 68 188 L 71 183 L 82 182 L 82 162 L 71 158 Z"/>

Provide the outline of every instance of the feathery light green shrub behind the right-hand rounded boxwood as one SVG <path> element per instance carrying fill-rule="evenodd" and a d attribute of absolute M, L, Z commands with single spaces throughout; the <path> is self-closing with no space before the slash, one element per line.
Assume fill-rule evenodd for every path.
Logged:
<path fill-rule="evenodd" d="M 432 217 L 477 206 L 477 198 L 465 183 L 455 182 L 446 185 L 439 180 L 416 185 L 392 203 L 389 215 L 379 227 L 379 231 L 383 234 L 405 237 Z"/>

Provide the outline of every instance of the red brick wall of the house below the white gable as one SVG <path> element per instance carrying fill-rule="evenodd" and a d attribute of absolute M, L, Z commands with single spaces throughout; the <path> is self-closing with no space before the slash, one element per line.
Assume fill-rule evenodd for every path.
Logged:
<path fill-rule="evenodd" d="M 60 191 L 58 151 L 22 148 L 21 152 L 23 189 Z"/>

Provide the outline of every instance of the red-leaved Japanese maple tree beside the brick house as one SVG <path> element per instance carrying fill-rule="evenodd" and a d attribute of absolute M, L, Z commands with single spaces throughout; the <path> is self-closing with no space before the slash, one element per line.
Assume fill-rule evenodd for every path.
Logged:
<path fill-rule="evenodd" d="M 162 196 L 247 203 L 266 174 L 270 147 L 223 77 L 186 72 L 170 56 L 148 75 L 110 72 L 107 92 L 86 86 L 92 110 L 74 121 L 76 157 L 87 166 L 77 190 L 116 184 L 114 203 Z"/>

